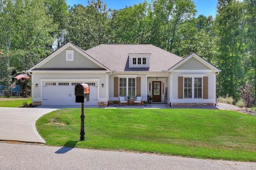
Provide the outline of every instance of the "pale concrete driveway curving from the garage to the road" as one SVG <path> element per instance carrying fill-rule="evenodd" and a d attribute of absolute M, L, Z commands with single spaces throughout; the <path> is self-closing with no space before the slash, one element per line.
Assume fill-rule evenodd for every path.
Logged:
<path fill-rule="evenodd" d="M 36 120 L 58 109 L 0 107 L 0 140 L 45 143 Z"/>

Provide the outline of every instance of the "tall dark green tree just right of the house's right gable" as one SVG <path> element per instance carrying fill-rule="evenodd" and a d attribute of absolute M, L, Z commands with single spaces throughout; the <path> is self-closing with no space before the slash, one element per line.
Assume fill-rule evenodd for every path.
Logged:
<path fill-rule="evenodd" d="M 238 87 L 244 84 L 243 53 L 244 29 L 242 18 L 244 6 L 236 0 L 218 0 L 218 14 L 215 21 L 215 32 L 218 36 L 218 67 L 222 76 L 218 76 L 220 95 L 238 99 Z"/>

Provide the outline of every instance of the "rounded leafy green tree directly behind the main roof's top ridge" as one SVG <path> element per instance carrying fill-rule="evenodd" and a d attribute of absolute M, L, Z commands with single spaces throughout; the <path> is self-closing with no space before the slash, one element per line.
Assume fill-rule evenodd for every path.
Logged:
<path fill-rule="evenodd" d="M 114 35 L 118 43 L 149 43 L 152 11 L 146 1 L 124 8 L 115 16 Z"/>

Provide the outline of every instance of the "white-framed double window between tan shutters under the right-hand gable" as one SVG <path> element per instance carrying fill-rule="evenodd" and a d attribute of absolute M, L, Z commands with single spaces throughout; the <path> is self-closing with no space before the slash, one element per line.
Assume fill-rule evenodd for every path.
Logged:
<path fill-rule="evenodd" d="M 202 99 L 202 77 L 184 77 L 184 99 Z"/>

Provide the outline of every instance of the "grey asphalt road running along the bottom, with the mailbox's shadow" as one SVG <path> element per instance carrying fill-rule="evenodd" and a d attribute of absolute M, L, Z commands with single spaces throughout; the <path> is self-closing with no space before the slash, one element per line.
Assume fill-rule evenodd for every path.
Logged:
<path fill-rule="evenodd" d="M 256 170 L 256 163 L 0 142 L 0 169 Z"/>

